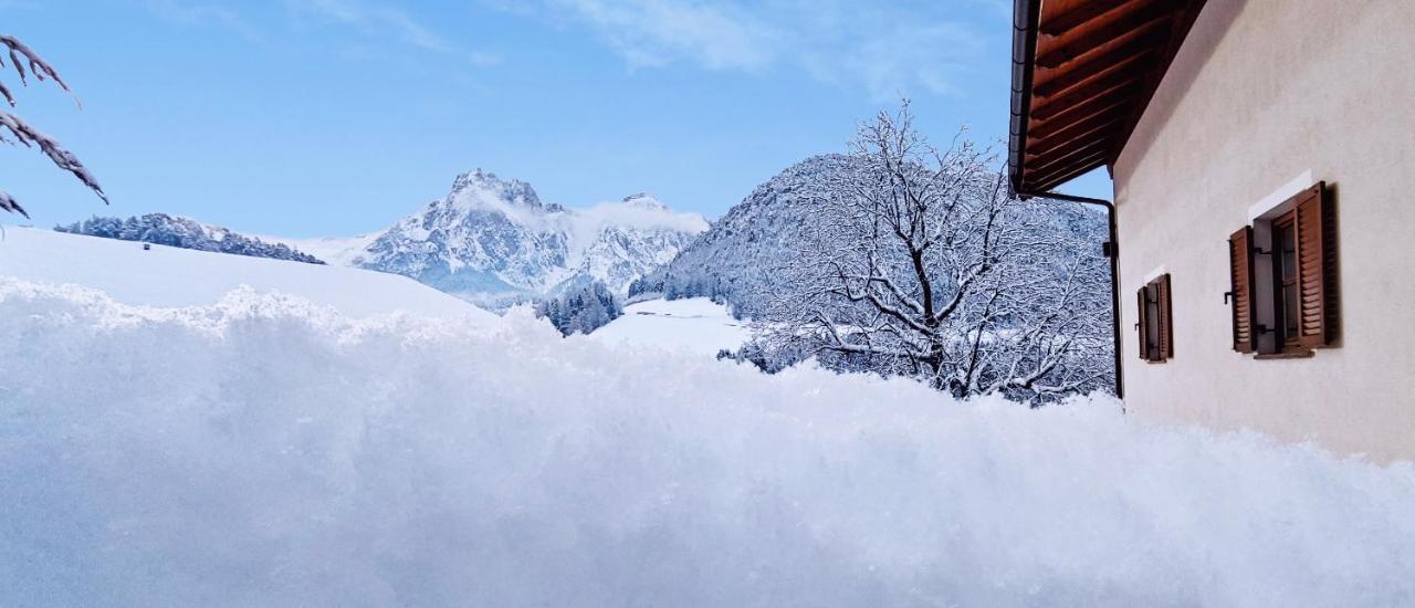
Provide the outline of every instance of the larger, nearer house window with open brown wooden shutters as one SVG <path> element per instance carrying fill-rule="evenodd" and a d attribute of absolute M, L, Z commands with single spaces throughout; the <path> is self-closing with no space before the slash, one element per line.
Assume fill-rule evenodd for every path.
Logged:
<path fill-rule="evenodd" d="M 1228 238 L 1232 348 L 1310 356 L 1337 329 L 1336 214 L 1320 182 Z"/>

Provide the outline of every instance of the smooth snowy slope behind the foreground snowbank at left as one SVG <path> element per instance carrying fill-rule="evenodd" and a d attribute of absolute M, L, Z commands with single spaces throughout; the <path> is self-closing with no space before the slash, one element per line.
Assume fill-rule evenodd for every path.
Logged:
<path fill-rule="evenodd" d="M 125 304 L 209 305 L 241 286 L 299 296 L 355 317 L 395 311 L 437 317 L 497 317 L 405 277 L 260 257 L 232 256 L 96 236 L 6 228 L 0 277 L 74 283 Z"/>

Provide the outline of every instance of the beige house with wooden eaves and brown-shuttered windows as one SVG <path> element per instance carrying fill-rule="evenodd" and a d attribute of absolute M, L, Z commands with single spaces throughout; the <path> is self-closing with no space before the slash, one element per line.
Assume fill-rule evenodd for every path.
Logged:
<path fill-rule="evenodd" d="M 1012 185 L 1107 167 L 1124 397 L 1415 458 L 1415 1 L 1016 0 Z"/>

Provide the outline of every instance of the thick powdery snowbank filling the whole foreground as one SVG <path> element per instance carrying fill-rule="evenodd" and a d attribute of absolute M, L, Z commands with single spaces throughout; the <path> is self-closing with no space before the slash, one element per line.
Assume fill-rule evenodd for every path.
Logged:
<path fill-rule="evenodd" d="M 1392 605 L 1415 467 L 1114 403 L 0 280 L 0 605 Z"/>

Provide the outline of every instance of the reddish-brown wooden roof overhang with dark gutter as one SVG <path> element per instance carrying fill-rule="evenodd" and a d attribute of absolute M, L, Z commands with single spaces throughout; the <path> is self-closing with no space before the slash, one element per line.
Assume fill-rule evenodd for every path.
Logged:
<path fill-rule="evenodd" d="M 1015 0 L 1009 175 L 1022 195 L 1114 165 L 1204 0 Z"/>

